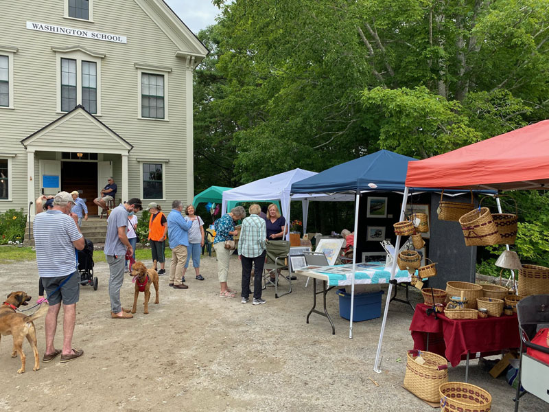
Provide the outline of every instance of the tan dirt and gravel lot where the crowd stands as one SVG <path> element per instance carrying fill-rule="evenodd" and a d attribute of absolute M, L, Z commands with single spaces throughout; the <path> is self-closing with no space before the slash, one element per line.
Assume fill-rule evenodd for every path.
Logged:
<path fill-rule="evenodd" d="M 96 251 L 95 253 L 101 253 Z M 150 264 L 150 262 L 145 262 Z M 169 267 L 169 262 L 167 266 Z M 192 270 L 192 269 L 191 269 Z M 32 371 L 16 373 L 10 358 L 11 336 L 0 343 L 0 410 L 6 411 L 431 411 L 401 388 L 406 350 L 413 346 L 408 326 L 412 310 L 391 304 L 382 374 L 373 371 L 381 319 L 349 323 L 339 316 L 338 297 L 329 292 L 328 310 L 336 324 L 312 314 L 312 288 L 294 282 L 290 295 L 267 304 L 220 299 L 215 258 L 202 259 L 204 282 L 188 276 L 188 290 L 167 286 L 161 277 L 160 304 L 143 314 L 140 296 L 134 319 L 110 319 L 108 267 L 97 263 L 99 289 L 82 286 L 73 343 L 84 356 L 62 364 L 59 358 Z M 190 273 L 189 273 L 190 275 Z M 25 290 L 38 294 L 36 262 L 0 265 L 0 293 Z M 231 260 L 229 286 L 240 290 L 240 262 Z M 122 303 L 130 307 L 133 284 L 126 277 Z M 419 301 L 419 293 L 413 293 Z M 36 299 L 33 299 L 33 301 Z M 36 321 L 40 358 L 45 349 L 44 321 Z M 58 325 L 56 346 L 62 342 Z M 450 368 L 451 380 L 463 380 L 464 363 Z M 472 362 L 470 382 L 493 396 L 493 411 L 511 411 L 513 390 L 493 380 Z M 379 386 L 376 386 L 372 380 Z M 547 405 L 522 398 L 522 411 L 547 411 Z"/>

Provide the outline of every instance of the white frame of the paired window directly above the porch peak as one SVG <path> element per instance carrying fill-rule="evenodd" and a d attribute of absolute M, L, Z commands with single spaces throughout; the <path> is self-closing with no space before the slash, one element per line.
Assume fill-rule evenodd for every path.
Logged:
<path fill-rule="evenodd" d="M 104 55 L 97 57 L 82 52 L 81 50 L 73 50 L 71 52 L 56 51 L 56 96 L 57 108 L 59 114 L 67 113 L 61 110 L 61 59 L 71 58 L 76 60 L 76 104 L 82 104 L 82 61 L 95 62 L 96 86 L 97 86 L 97 113 L 94 116 L 101 116 L 101 60 Z M 87 109 L 86 109 L 87 110 Z"/>

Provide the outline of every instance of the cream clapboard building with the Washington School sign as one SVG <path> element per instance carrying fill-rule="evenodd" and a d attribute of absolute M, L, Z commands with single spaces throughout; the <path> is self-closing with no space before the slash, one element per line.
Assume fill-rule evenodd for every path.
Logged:
<path fill-rule="evenodd" d="M 162 0 L 0 1 L 0 212 L 80 190 L 191 201 L 193 71 L 208 50 Z"/>

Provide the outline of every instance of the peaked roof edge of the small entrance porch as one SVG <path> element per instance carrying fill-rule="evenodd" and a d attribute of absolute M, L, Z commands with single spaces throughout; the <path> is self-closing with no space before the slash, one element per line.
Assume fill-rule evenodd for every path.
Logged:
<path fill-rule="evenodd" d="M 84 106 L 81 104 L 78 104 L 78 106 L 75 106 L 71 111 L 65 113 L 61 117 L 58 117 L 53 122 L 47 124 L 43 128 L 40 128 L 40 130 L 36 130 L 36 132 L 32 133 L 32 135 L 29 135 L 25 137 L 25 139 L 21 140 L 21 144 L 27 148 L 27 146 L 31 144 L 37 144 L 38 140 L 40 140 L 41 137 L 46 136 L 48 133 L 51 133 L 56 128 L 60 128 L 63 124 L 70 122 L 71 119 L 80 116 L 85 119 L 84 121 L 87 121 L 88 125 L 91 128 L 97 128 L 97 130 L 101 130 L 103 132 L 104 137 L 110 138 L 111 143 L 117 148 L 117 150 L 127 150 L 128 152 L 132 150 L 133 146 L 130 144 L 130 142 L 126 141 L 123 137 L 121 137 L 118 133 L 116 133 L 113 129 L 108 127 L 106 124 L 104 124 L 100 119 L 97 119 L 94 115 L 89 113 L 89 111 L 86 111 Z M 74 141 L 74 137 L 71 137 Z M 90 142 L 91 148 L 98 147 L 97 141 Z M 82 146 L 84 149 L 85 144 L 82 142 L 79 143 L 79 146 Z M 93 150 L 90 150 L 93 152 Z"/>

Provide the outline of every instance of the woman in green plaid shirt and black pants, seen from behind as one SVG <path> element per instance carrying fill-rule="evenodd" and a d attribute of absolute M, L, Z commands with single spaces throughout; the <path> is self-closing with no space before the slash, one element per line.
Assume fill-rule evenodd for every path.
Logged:
<path fill-rule="evenodd" d="M 250 216 L 242 220 L 242 232 L 238 242 L 238 258 L 242 261 L 242 297 L 243 304 L 248 303 L 250 296 L 250 276 L 253 264 L 253 301 L 254 305 L 266 303 L 261 299 L 261 273 L 265 263 L 265 239 L 267 238 L 267 227 L 265 219 L 259 216 L 261 207 L 250 206 Z"/>

